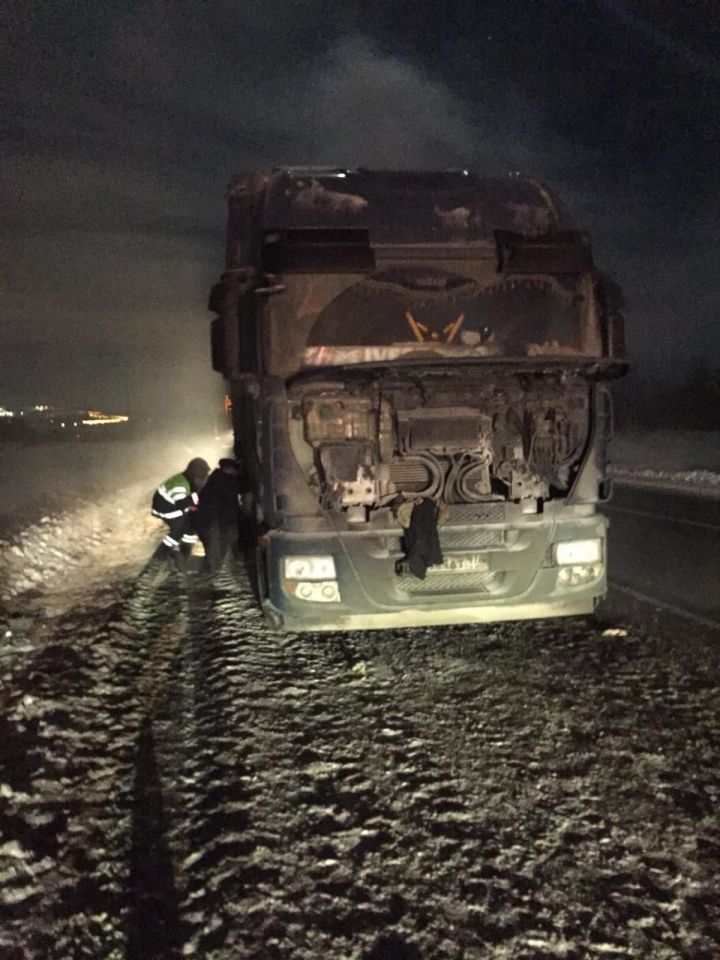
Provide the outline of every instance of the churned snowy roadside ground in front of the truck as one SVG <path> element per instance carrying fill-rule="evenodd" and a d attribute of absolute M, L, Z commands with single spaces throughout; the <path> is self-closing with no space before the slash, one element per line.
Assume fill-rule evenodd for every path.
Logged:
<path fill-rule="evenodd" d="M 717 960 L 717 631 L 284 636 L 146 499 L 0 613 L 2 960 Z"/>

